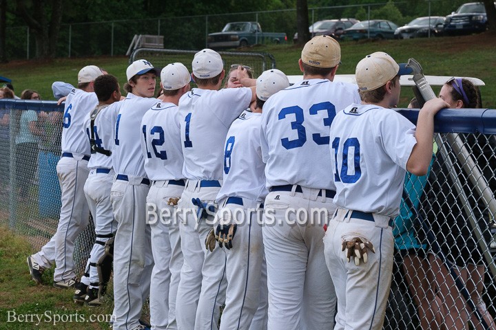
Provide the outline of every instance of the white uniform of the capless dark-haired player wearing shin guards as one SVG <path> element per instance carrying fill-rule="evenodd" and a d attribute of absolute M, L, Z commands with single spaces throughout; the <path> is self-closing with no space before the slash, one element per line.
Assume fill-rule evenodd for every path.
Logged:
<path fill-rule="evenodd" d="M 91 130 L 96 146 L 108 151 L 112 151 L 114 146 L 114 122 L 112 113 L 118 111 L 121 102 L 104 104 L 91 126 L 91 111 L 85 118 L 85 128 L 88 137 L 91 138 Z M 103 142 L 105 140 L 105 143 Z M 99 274 L 96 267 L 99 259 L 105 253 L 105 243 L 114 236 L 117 230 L 117 222 L 114 221 L 112 212 L 112 202 L 110 201 L 110 190 L 114 182 L 114 168 L 112 167 L 112 155 L 107 156 L 102 153 L 93 153 L 88 162 L 90 175 L 85 182 L 84 192 L 90 212 L 93 214 L 96 240 L 90 252 L 90 259 L 86 268 L 86 273 L 81 277 L 81 282 L 89 285 L 90 288 L 99 287 Z M 89 268 L 89 269 L 88 269 Z"/>

